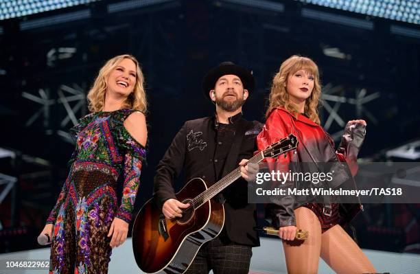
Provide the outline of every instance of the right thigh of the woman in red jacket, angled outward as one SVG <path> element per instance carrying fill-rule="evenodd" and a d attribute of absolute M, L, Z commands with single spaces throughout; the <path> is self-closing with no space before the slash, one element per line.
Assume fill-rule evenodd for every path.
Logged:
<path fill-rule="evenodd" d="M 336 273 L 376 273 L 371 261 L 340 225 L 325 231 L 321 239 L 320 256 Z"/>

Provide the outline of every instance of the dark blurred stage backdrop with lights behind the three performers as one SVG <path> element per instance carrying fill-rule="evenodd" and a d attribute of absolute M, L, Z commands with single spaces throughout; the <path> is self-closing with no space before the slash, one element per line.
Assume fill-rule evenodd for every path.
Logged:
<path fill-rule="evenodd" d="M 38 247 L 67 176 L 67 130 L 88 113 L 86 92 L 117 54 L 139 59 L 150 102 L 136 210 L 183 122 L 213 114 L 200 84 L 225 60 L 253 70 L 244 116 L 264 122 L 281 62 L 313 58 L 322 124 L 336 141 L 362 118 L 362 161 L 419 161 L 419 23 L 419 0 L 1 0 L 0 252 Z M 365 205 L 353 225 L 362 248 L 420 253 L 419 222 L 418 204 L 381 204 Z"/>

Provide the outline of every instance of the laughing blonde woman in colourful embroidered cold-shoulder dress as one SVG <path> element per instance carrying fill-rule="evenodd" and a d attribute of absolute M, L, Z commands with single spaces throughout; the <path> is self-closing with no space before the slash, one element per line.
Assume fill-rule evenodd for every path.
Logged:
<path fill-rule="evenodd" d="M 136 58 L 121 55 L 88 93 L 91 113 L 71 128 L 69 176 L 41 232 L 52 241 L 50 273 L 107 273 L 111 249 L 127 238 L 148 135 L 143 84 Z"/>

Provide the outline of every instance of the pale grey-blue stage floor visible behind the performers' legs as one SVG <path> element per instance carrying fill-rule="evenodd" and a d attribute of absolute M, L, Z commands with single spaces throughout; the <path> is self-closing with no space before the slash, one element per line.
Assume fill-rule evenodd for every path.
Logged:
<path fill-rule="evenodd" d="M 35 240 L 35 239 L 34 239 Z M 389 272 L 398 274 L 418 274 L 420 273 L 420 255 L 409 253 L 392 253 L 385 251 L 374 251 L 364 249 L 364 253 L 373 263 L 379 273 Z M 6 270 L 4 268 L 6 260 L 46 260 L 49 258 L 49 249 L 34 249 L 14 253 L 0 254 L 1 268 L 0 273 L 4 274 L 37 274 L 47 273 L 43 270 Z M 143 273 L 137 267 L 132 253 L 131 238 L 113 250 L 111 256 L 110 274 L 130 274 Z M 252 274 L 283 274 L 287 273 L 285 267 L 283 248 L 280 240 L 274 238 L 261 238 L 261 247 L 253 249 L 253 258 L 250 264 Z M 334 273 L 323 260 L 320 260 L 318 273 Z"/>

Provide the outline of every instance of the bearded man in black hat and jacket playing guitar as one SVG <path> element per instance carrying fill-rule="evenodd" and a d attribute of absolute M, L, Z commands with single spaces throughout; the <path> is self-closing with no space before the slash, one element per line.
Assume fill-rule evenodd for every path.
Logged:
<path fill-rule="evenodd" d="M 241 165 L 242 178 L 216 196 L 224 203 L 224 228 L 213 240 L 202 245 L 187 273 L 248 273 L 251 248 L 259 246 L 255 204 L 248 204 L 247 183 L 257 172 L 246 159 L 257 150 L 255 137 L 259 122 L 242 117 L 242 104 L 255 87 L 252 73 L 223 62 L 211 69 L 202 81 L 207 98 L 215 104 L 215 115 L 185 122 L 170 148 L 159 162 L 154 177 L 154 191 L 166 218 L 181 216 L 189 204 L 176 200 L 172 186 L 181 170 L 185 181 L 196 177 L 209 185 Z"/>

